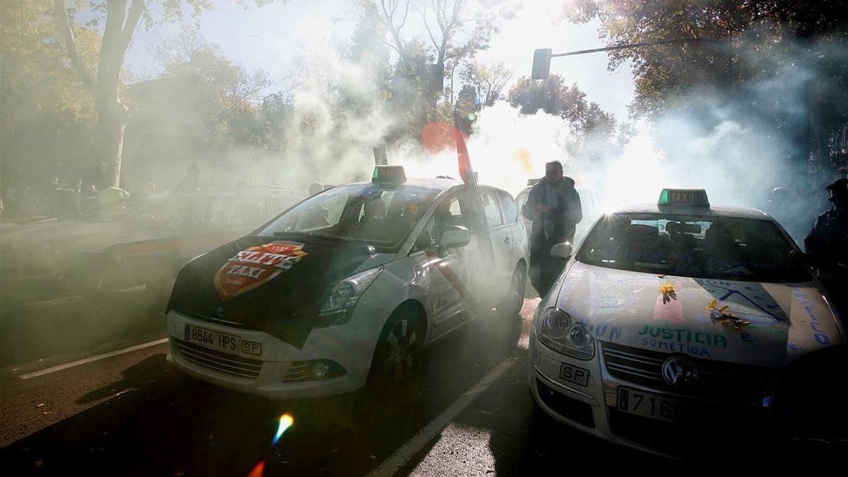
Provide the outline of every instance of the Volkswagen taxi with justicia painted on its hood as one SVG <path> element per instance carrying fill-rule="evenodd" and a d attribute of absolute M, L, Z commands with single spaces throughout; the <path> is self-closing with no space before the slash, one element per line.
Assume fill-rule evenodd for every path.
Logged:
<path fill-rule="evenodd" d="M 533 317 L 545 413 L 676 457 L 848 434 L 845 323 L 771 217 L 664 189 L 601 216 L 576 250 L 555 245 L 566 268 Z"/>

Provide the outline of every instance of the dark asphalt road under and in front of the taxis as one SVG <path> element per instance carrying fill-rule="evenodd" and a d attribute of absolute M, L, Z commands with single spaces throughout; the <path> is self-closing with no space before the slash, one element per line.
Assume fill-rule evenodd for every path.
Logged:
<path fill-rule="evenodd" d="M 534 412 L 525 373 L 537 303 L 525 301 L 520 338 L 516 325 L 481 320 L 440 341 L 428 351 L 416 391 L 392 399 L 365 392 L 292 402 L 242 396 L 168 367 L 165 344 L 29 379 L 59 362 L 4 368 L 0 475 L 248 475 L 260 463 L 264 475 L 665 465 Z M 283 413 L 294 424 L 273 446 Z"/>

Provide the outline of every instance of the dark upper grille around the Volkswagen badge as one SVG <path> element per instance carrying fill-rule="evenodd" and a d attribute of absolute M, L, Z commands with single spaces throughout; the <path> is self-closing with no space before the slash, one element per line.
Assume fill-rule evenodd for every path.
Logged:
<path fill-rule="evenodd" d="M 698 381 L 686 389 L 672 388 L 662 378 L 662 363 L 671 356 L 629 346 L 603 343 L 606 370 L 616 379 L 650 389 L 666 390 L 732 404 L 760 404 L 767 396 L 774 372 L 771 368 L 690 357 L 698 368 Z"/>

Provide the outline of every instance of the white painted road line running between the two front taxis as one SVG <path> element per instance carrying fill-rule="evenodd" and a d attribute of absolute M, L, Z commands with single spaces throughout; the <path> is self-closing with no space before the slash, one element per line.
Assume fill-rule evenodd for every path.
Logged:
<path fill-rule="evenodd" d="M 489 386 L 494 384 L 501 376 L 506 373 L 510 367 L 512 366 L 513 361 L 505 361 L 501 362 L 498 366 L 496 366 L 493 370 L 489 371 L 483 379 L 477 381 L 477 384 L 474 384 L 470 390 L 467 390 L 465 394 L 459 397 L 456 401 L 454 401 L 447 409 L 442 411 L 435 419 L 430 421 L 429 424 L 424 426 L 424 429 L 418 431 L 418 434 L 412 436 L 412 439 L 406 442 L 404 446 L 400 447 L 397 451 L 395 451 L 388 459 L 384 460 L 377 469 L 371 471 L 368 474 L 368 477 L 377 477 L 383 475 L 394 475 L 398 470 L 409 462 L 410 458 L 415 457 L 415 455 L 421 451 L 424 446 L 427 446 L 427 443 L 432 441 L 438 433 L 442 432 L 442 430 L 448 427 L 448 424 L 451 423 L 457 416 L 460 415 L 460 412 L 463 412 L 466 407 L 468 407 L 471 402 L 477 399 L 477 396 L 483 394 L 483 391 L 488 390 Z"/>

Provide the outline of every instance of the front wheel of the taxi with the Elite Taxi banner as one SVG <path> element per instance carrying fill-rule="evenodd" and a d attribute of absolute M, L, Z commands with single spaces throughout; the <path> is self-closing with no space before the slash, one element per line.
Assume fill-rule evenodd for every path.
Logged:
<path fill-rule="evenodd" d="M 423 320 L 413 309 L 400 309 L 382 328 L 371 359 L 369 384 L 381 391 L 409 388 L 421 367 Z"/>

